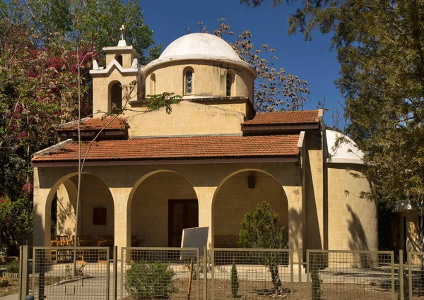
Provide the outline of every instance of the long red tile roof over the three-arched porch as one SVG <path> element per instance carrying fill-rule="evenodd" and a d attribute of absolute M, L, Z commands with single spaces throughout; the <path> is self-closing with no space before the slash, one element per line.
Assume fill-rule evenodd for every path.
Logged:
<path fill-rule="evenodd" d="M 298 134 L 285 136 L 193 136 L 100 140 L 87 160 L 166 160 L 204 158 L 283 157 L 298 154 Z M 82 143 L 85 155 L 89 142 Z M 78 160 L 78 143 L 69 142 L 37 155 L 33 162 Z"/>

